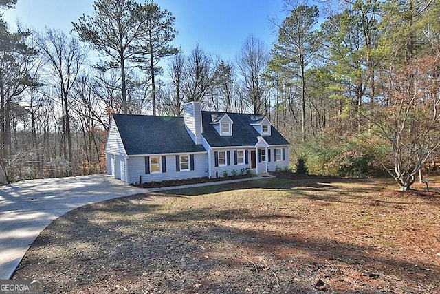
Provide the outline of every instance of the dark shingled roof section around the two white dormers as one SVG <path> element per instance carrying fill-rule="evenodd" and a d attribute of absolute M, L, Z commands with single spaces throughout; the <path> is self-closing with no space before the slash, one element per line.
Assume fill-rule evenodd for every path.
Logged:
<path fill-rule="evenodd" d="M 206 138 L 212 147 L 222 146 L 254 146 L 261 136 L 259 132 L 251 125 L 260 123 L 264 116 L 255 114 L 232 114 L 228 116 L 234 122 L 232 124 L 232 136 L 220 136 L 214 128 L 212 118 L 222 117 L 224 112 L 201 112 L 203 120 L 203 137 Z M 289 142 L 272 126 L 272 136 L 263 136 L 269 145 L 289 145 Z"/>

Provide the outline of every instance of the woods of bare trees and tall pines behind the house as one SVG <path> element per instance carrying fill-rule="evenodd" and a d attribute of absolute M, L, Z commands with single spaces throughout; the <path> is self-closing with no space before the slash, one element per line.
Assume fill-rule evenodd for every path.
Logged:
<path fill-rule="evenodd" d="M 405 190 L 437 167 L 438 1 L 286 0 L 284 12 L 272 48 L 249 36 L 234 60 L 177 50 L 174 17 L 153 1 L 97 0 L 70 36 L 1 21 L 5 180 L 102 173 L 109 114 L 180 116 L 188 101 L 267 115 L 310 173 L 388 172 Z"/>

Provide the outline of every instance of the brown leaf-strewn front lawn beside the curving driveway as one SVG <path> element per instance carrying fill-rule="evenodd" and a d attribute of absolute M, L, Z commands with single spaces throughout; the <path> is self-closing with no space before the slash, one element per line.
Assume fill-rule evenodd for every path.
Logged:
<path fill-rule="evenodd" d="M 268 178 L 91 204 L 13 278 L 47 293 L 440 293 L 440 178 L 414 188 Z"/>

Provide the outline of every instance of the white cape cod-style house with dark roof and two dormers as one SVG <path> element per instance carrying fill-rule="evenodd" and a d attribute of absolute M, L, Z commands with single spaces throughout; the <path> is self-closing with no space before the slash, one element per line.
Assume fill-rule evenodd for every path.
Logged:
<path fill-rule="evenodd" d="M 184 117 L 113 114 L 105 153 L 107 174 L 126 184 L 289 166 L 289 142 L 266 116 L 205 112 L 196 101 Z"/>

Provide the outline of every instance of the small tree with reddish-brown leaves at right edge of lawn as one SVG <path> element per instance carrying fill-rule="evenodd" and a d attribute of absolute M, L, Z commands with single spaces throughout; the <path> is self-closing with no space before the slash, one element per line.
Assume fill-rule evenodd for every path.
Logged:
<path fill-rule="evenodd" d="M 440 56 L 412 59 L 389 74 L 386 105 L 367 116 L 391 145 L 388 173 L 401 191 L 410 189 L 426 160 L 440 147 Z"/>

